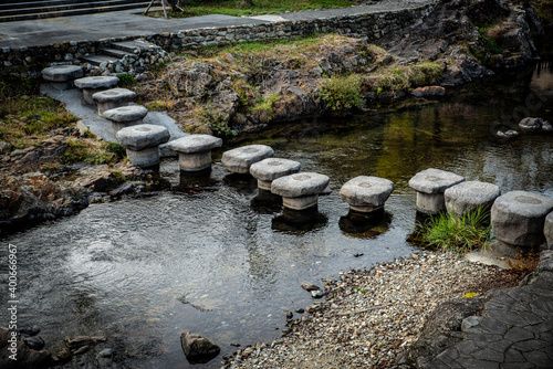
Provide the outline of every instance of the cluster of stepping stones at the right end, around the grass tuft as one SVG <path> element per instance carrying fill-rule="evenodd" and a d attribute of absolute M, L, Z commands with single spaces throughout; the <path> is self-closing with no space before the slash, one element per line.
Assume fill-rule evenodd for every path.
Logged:
<path fill-rule="evenodd" d="M 409 180 L 417 191 L 417 210 L 427 214 L 447 211 L 462 217 L 482 207 L 490 210 L 495 239 L 509 245 L 553 246 L 553 199 L 529 191 L 501 194 L 498 186 L 466 181 L 450 171 L 427 169 Z"/>

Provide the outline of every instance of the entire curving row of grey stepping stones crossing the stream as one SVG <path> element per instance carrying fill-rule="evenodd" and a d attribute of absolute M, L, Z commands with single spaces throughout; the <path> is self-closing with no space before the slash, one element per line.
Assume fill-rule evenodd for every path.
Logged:
<path fill-rule="evenodd" d="M 126 148 L 127 157 L 138 167 L 159 162 L 159 145 L 169 140 L 165 127 L 142 124 L 147 115 L 144 106 L 132 105 L 136 94 L 126 88 L 112 88 L 117 77 L 84 77 L 74 65 L 59 65 L 42 71 L 44 80 L 54 88 L 76 86 L 83 92 L 83 104 L 97 105 L 100 116 L 112 120 L 116 138 Z M 179 154 L 182 171 L 201 171 L 211 166 L 211 150 L 222 140 L 209 135 L 190 135 L 169 143 Z M 225 167 L 236 173 L 251 173 L 258 187 L 283 198 L 283 205 L 292 210 L 309 209 L 317 203 L 319 194 L 327 187 L 328 177 L 315 172 L 300 172 L 298 161 L 272 158 L 269 146 L 250 145 L 226 151 Z M 498 186 L 466 181 L 463 177 L 439 169 L 427 169 L 409 180 L 417 191 L 417 209 L 438 214 L 448 211 L 462 217 L 478 207 L 491 208 L 491 224 L 495 238 L 514 246 L 538 246 L 545 239 L 553 245 L 553 199 L 533 192 L 511 191 L 501 196 Z M 346 182 L 340 196 L 351 210 L 364 214 L 382 211 L 394 190 L 394 183 L 384 178 L 361 176 Z"/>

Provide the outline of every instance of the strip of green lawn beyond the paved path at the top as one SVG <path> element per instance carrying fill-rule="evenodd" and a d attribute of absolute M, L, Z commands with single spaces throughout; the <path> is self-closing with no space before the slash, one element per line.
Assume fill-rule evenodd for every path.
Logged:
<path fill-rule="evenodd" d="M 241 0 L 198 0 L 182 3 L 182 12 L 168 11 L 171 18 L 188 18 L 208 14 L 226 14 L 247 17 L 284 11 L 344 8 L 354 4 L 347 0 L 253 0 L 251 7 L 241 6 Z M 156 11 L 155 17 L 163 17 L 163 11 Z"/>

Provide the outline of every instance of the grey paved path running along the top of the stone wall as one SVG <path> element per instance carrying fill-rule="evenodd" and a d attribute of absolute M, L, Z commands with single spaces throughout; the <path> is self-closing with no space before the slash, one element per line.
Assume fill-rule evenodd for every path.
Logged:
<path fill-rule="evenodd" d="M 88 15 L 74 15 L 0 23 L 0 48 L 44 46 L 66 41 L 97 41 L 107 38 L 140 36 L 210 27 L 263 24 L 282 20 L 324 19 L 418 8 L 432 0 L 384 0 L 374 6 L 324 9 L 261 17 L 204 15 L 164 19 L 126 10 Z"/>

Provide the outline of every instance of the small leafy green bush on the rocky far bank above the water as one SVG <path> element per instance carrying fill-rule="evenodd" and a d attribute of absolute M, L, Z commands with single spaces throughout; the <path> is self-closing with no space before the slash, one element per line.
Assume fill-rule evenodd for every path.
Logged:
<path fill-rule="evenodd" d="M 349 76 L 332 76 L 323 81 L 320 91 L 321 98 L 332 110 L 362 107 L 361 77 L 352 74 Z"/>

